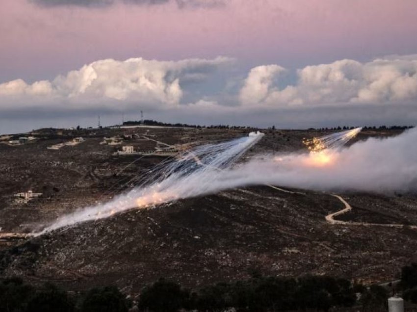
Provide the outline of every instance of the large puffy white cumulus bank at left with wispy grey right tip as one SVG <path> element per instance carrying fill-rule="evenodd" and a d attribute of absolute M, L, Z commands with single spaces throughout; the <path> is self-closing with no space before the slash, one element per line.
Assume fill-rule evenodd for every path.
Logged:
<path fill-rule="evenodd" d="M 52 81 L 28 84 L 16 79 L 0 84 L 0 110 L 16 105 L 83 109 L 86 103 L 89 109 L 105 106 L 113 110 L 137 104 L 175 106 L 183 96 L 182 82 L 201 82 L 231 61 L 227 57 L 181 61 L 99 60 Z"/>

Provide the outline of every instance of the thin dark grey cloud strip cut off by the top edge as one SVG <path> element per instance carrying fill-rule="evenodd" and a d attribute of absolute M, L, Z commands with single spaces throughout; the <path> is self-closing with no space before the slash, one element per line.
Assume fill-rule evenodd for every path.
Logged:
<path fill-rule="evenodd" d="M 54 6 L 81 6 L 106 7 L 115 3 L 154 5 L 176 2 L 179 8 L 213 8 L 224 6 L 227 0 L 29 0 L 44 7 Z"/>

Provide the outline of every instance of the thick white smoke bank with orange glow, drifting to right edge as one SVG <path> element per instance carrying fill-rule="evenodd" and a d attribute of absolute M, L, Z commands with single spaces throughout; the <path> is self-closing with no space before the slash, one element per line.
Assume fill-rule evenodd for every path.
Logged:
<path fill-rule="evenodd" d="M 318 191 L 417 191 L 417 129 L 341 150 L 264 157 L 223 172 L 217 190 L 276 184 Z M 216 191 L 216 190 L 214 190 Z"/>

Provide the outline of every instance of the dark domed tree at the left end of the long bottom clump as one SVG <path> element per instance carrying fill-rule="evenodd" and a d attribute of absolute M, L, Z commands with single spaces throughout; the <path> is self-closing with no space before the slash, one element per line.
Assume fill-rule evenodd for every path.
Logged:
<path fill-rule="evenodd" d="M 189 291 L 177 283 L 159 279 L 140 293 L 139 308 L 154 312 L 175 312 L 188 305 Z"/>

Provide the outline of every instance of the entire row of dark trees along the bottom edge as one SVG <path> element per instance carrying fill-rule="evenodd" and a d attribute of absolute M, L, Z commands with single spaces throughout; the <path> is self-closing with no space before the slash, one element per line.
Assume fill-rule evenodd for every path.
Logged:
<path fill-rule="evenodd" d="M 401 269 L 399 285 L 404 299 L 417 303 L 417 263 Z M 159 279 L 142 289 L 134 311 L 220 312 L 234 308 L 238 312 L 327 312 L 352 307 L 352 311 L 380 312 L 387 311 L 388 297 L 386 287 L 366 287 L 346 279 L 313 275 L 296 279 L 263 277 L 257 273 L 247 280 L 209 285 L 195 292 Z M 0 312 L 128 312 L 132 306 L 115 286 L 75 293 L 52 284 L 31 286 L 20 278 L 0 282 L 0 303 Z"/>

